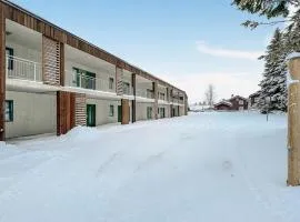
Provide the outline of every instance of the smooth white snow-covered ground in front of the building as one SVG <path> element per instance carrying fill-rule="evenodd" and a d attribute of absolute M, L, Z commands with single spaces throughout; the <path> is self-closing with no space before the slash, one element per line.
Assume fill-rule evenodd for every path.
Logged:
<path fill-rule="evenodd" d="M 0 221 L 300 221 L 284 115 L 197 113 L 0 145 Z"/>

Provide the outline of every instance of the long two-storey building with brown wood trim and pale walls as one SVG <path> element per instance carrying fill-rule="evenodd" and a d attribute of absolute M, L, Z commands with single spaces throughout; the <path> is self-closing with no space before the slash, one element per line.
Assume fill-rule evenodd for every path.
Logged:
<path fill-rule="evenodd" d="M 0 140 L 187 114 L 187 93 L 0 0 Z"/>

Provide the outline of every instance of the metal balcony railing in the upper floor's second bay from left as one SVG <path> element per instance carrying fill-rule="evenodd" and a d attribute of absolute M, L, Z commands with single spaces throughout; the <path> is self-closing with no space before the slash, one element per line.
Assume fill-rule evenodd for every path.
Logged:
<path fill-rule="evenodd" d="M 86 74 L 72 72 L 72 71 L 66 71 L 67 87 L 76 87 L 76 88 L 82 88 L 82 89 L 89 89 L 89 90 L 98 90 L 103 92 L 116 92 L 116 90 L 110 88 L 109 80 L 103 80 L 100 78 L 89 77 Z"/>

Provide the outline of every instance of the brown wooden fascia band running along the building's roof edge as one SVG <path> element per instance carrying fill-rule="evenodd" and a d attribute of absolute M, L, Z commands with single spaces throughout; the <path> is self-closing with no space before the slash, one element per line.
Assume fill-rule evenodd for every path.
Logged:
<path fill-rule="evenodd" d="M 97 57 L 101 60 L 104 60 L 109 63 L 112 63 L 121 69 L 128 70 L 131 73 L 136 73 L 140 77 L 143 77 L 150 81 L 158 81 L 159 84 L 161 84 L 161 85 L 174 88 L 173 85 L 167 83 L 166 81 L 160 80 L 159 78 L 156 78 L 154 75 L 152 75 L 152 74 L 150 74 L 150 73 L 132 65 L 132 64 L 129 64 L 124 60 L 82 40 L 79 37 L 76 37 L 74 34 L 71 34 L 70 32 L 46 21 L 44 19 L 29 12 L 26 9 L 20 8 L 17 4 L 13 4 L 13 3 L 9 2 L 9 1 L 4 1 L 4 0 L 1 0 L 1 2 L 3 2 L 3 12 L 4 12 L 2 14 L 4 14 L 4 17 L 9 20 L 18 22 L 19 24 L 22 24 L 29 29 L 32 29 L 34 31 L 42 33 L 44 37 L 47 37 L 49 39 L 56 40 L 56 41 L 64 43 L 64 44 L 69 44 L 70 47 L 73 47 L 73 48 L 79 49 L 83 52 L 87 52 L 93 57 Z M 181 91 L 181 90 L 179 90 L 179 91 Z"/>

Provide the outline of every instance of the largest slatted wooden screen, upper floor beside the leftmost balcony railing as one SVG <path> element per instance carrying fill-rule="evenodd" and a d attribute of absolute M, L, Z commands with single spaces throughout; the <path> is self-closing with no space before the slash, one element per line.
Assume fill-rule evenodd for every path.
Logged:
<path fill-rule="evenodd" d="M 60 85 L 61 80 L 61 44 L 47 37 L 42 38 L 42 73 L 43 83 Z"/>

